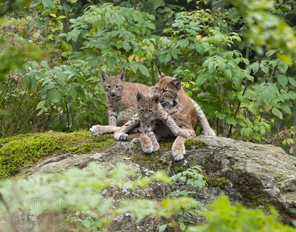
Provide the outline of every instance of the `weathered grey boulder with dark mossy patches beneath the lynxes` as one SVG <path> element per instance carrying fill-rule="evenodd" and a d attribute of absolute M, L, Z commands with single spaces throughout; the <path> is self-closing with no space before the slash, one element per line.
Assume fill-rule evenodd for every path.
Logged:
<path fill-rule="evenodd" d="M 130 141 L 132 137 L 129 138 Z M 204 205 L 226 194 L 233 202 L 238 201 L 248 207 L 268 209 L 272 205 L 279 212 L 282 223 L 289 224 L 295 218 L 290 213 L 290 208 L 296 208 L 296 158 L 287 155 L 281 148 L 229 138 L 198 136 L 186 143 L 185 158 L 174 161 L 170 152 L 172 140 L 162 141 L 160 151 L 153 154 L 145 154 L 130 141 L 116 142 L 100 153 L 65 154 L 48 158 L 27 169 L 25 174 L 30 178 L 41 173 L 64 172 L 71 167 L 87 169 L 87 163 L 95 161 L 111 169 L 116 163 L 122 162 L 132 167 L 136 173 L 133 178 L 141 178 L 157 170 L 163 170 L 171 176 L 191 165 L 201 165 L 209 187 L 196 189 L 196 193 L 191 196 Z M 124 159 L 127 156 L 131 159 Z M 133 197 L 162 199 L 177 189 L 184 190 L 185 186 L 153 182 L 147 189 L 133 193 Z M 121 198 L 115 200 L 130 197 L 127 190 L 116 195 Z M 204 222 L 202 217 L 200 222 Z M 156 223 L 151 218 L 134 220 L 129 214 L 124 214 L 111 222 L 109 230 L 135 231 L 137 228 L 137 231 L 147 231 L 150 227 L 149 230 L 156 231 L 156 227 L 164 223 Z"/>

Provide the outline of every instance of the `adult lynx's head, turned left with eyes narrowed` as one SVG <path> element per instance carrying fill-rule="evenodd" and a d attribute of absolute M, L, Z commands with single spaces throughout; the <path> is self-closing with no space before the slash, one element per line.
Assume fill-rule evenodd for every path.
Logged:
<path fill-rule="evenodd" d="M 155 90 L 159 96 L 159 102 L 163 107 L 166 105 L 175 106 L 179 102 L 181 80 L 173 77 L 166 77 L 159 74 L 159 81 L 155 85 Z"/>

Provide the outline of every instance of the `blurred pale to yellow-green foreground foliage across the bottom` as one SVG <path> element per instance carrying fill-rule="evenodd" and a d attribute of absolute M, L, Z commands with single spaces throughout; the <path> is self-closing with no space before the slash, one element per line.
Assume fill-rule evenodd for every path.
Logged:
<path fill-rule="evenodd" d="M 195 170 L 200 171 L 200 166 L 184 172 L 186 186 L 191 185 L 188 184 L 188 180 L 196 179 L 198 173 Z M 294 231 L 293 228 L 281 225 L 277 221 L 274 209 L 271 210 L 271 214 L 266 214 L 261 209 L 231 205 L 227 197 L 216 199 L 208 211 L 199 201 L 188 196 L 164 199 L 117 199 L 108 195 L 113 193 L 114 189 L 137 191 L 147 188 L 154 181 L 162 184 L 171 184 L 170 179 L 178 181 L 176 176 L 169 179 L 162 172 L 140 179 L 134 179 L 133 176 L 134 173 L 126 163 L 117 163 L 112 170 L 108 170 L 102 165 L 91 162 L 83 170 L 72 168 L 64 173 L 35 175 L 29 179 L 1 180 L 0 215 L 5 217 L 5 222 L 8 222 L 15 212 L 22 209 L 27 213 L 34 213 L 34 216 L 60 211 L 65 215 L 65 222 L 61 225 L 56 224 L 53 229 L 76 232 L 94 229 L 104 231 L 116 216 L 127 212 L 138 220 L 147 216 L 157 220 L 175 219 L 168 224 L 158 226 L 159 232 L 169 227 L 179 228 L 181 231 Z M 34 203 L 28 204 L 28 200 L 31 199 L 34 199 Z M 44 199 L 46 204 L 40 202 Z M 10 201 L 18 204 L 10 206 Z M 190 215 L 193 221 L 186 220 L 185 215 L 186 218 Z M 195 220 L 200 215 L 206 217 L 206 224 L 196 224 Z M 188 227 L 190 225 L 194 227 Z"/>

